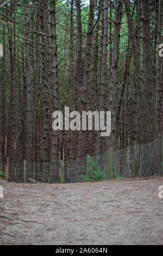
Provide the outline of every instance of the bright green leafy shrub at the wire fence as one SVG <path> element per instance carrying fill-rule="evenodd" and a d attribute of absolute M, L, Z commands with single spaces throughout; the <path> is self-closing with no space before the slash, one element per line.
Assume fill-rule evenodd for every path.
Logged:
<path fill-rule="evenodd" d="M 84 168 L 85 175 L 82 175 L 79 182 L 94 182 L 105 179 L 105 172 L 91 157 L 87 157 L 87 167 Z"/>

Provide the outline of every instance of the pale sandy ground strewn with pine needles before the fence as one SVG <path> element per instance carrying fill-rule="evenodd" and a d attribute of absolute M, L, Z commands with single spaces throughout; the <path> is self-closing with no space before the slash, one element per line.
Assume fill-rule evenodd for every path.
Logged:
<path fill-rule="evenodd" d="M 0 185 L 1 245 L 163 244 L 163 179 Z"/>

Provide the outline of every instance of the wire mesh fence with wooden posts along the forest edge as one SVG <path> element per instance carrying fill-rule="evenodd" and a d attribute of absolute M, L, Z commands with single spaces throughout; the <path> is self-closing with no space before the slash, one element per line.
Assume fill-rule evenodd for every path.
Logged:
<path fill-rule="evenodd" d="M 48 183 L 163 176 L 162 139 L 146 145 L 135 143 L 127 149 L 110 148 L 103 155 L 87 155 L 82 161 L 14 162 L 8 164 L 5 175 L 9 181 Z"/>

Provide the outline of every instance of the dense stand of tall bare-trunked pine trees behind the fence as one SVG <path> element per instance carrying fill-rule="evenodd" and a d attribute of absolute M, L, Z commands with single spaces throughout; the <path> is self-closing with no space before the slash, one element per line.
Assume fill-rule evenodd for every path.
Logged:
<path fill-rule="evenodd" d="M 0 43 L 0 170 L 9 181 L 70 182 L 89 157 L 102 166 L 110 149 L 129 155 L 161 142 L 162 0 L 0 0 Z M 54 131 L 52 114 L 65 106 L 111 111 L 111 135 Z"/>

